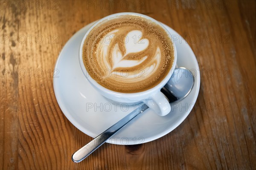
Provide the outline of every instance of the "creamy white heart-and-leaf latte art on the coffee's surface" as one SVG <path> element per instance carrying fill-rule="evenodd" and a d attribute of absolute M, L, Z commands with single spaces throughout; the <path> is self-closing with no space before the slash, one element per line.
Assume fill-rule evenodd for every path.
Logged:
<path fill-rule="evenodd" d="M 115 71 L 116 81 L 130 82 L 132 80 L 139 82 L 143 78 L 154 74 L 161 59 L 160 48 L 155 48 L 154 53 L 150 56 L 143 55 L 149 47 L 149 40 L 143 38 L 142 31 L 129 31 L 123 36 L 126 41 L 123 39 L 121 43 L 121 40 L 118 41 L 113 38 L 116 34 L 118 34 L 118 30 L 111 31 L 109 34 L 105 35 L 105 37 L 103 37 L 104 41 L 97 49 L 97 51 L 100 51 L 99 54 L 101 55 L 98 62 L 104 66 L 104 68 L 111 70 L 111 73 L 117 69 L 117 71 Z M 103 79 L 106 77 L 108 76 L 103 77 Z M 134 79 L 135 77 L 137 79 Z"/>

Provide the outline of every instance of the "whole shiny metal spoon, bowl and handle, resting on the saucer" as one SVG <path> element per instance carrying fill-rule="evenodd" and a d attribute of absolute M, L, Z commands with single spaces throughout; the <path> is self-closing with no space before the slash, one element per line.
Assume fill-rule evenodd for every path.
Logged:
<path fill-rule="evenodd" d="M 161 89 L 161 92 L 166 96 L 169 102 L 172 103 L 185 98 L 192 90 L 193 85 L 194 77 L 191 71 L 186 68 L 176 68 L 171 79 L 169 79 L 167 84 Z M 134 119 L 140 113 L 143 113 L 146 109 L 148 109 L 148 106 L 143 102 L 140 103 L 136 110 L 119 120 L 119 122 L 113 126 L 109 127 L 91 142 L 84 145 L 81 149 L 77 150 L 72 155 L 72 160 L 74 162 L 84 160 L 87 156 L 93 153 L 94 150 L 99 148 L 125 125 L 131 122 L 132 119 Z"/>

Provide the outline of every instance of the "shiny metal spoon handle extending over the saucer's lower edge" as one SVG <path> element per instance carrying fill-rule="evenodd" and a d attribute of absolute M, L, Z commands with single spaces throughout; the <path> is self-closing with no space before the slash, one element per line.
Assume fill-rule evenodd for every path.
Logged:
<path fill-rule="evenodd" d="M 116 124 L 114 124 L 113 126 L 109 127 L 107 130 L 105 130 L 103 133 L 101 133 L 99 136 L 97 136 L 91 142 L 84 145 L 81 149 L 77 150 L 72 155 L 72 160 L 74 162 L 80 162 L 80 161 L 84 160 L 87 156 L 89 156 L 91 153 L 93 153 L 94 150 L 96 150 L 98 147 L 100 147 L 102 144 L 104 144 L 114 134 L 116 134 L 119 130 L 121 130 L 122 127 L 124 127 L 126 124 L 128 124 L 132 119 L 134 119 L 140 113 L 143 113 L 143 111 L 145 111 L 147 108 L 148 108 L 147 105 L 141 103 L 141 105 L 136 110 L 129 113 L 127 116 L 125 116 L 123 119 L 119 120 L 119 122 L 116 122 Z"/>

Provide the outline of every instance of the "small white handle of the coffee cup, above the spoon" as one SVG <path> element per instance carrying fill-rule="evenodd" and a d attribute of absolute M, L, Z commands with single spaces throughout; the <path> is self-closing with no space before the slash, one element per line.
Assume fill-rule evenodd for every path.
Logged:
<path fill-rule="evenodd" d="M 171 111 L 171 105 L 162 92 L 152 95 L 143 101 L 149 108 L 154 110 L 159 116 L 166 116 Z"/>

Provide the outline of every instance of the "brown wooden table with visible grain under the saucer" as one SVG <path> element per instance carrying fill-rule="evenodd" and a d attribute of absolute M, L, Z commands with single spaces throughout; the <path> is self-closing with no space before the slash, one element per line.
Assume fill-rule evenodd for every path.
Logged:
<path fill-rule="evenodd" d="M 256 2 L 0 1 L 0 169 L 256 169 Z M 146 14 L 175 29 L 201 69 L 195 107 L 171 133 L 145 144 L 92 140 L 55 99 L 58 54 L 79 29 L 117 12 Z"/>

